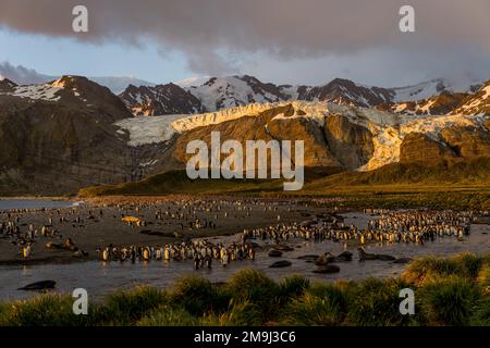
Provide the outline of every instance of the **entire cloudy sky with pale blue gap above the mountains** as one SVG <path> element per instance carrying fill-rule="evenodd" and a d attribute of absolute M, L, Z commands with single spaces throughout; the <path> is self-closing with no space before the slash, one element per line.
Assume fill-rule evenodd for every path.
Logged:
<path fill-rule="evenodd" d="M 72 9 L 88 9 L 74 33 Z M 415 9 L 415 33 L 399 29 Z M 489 0 L 0 0 L 0 63 L 168 83 L 248 74 L 383 87 L 490 78 Z"/>

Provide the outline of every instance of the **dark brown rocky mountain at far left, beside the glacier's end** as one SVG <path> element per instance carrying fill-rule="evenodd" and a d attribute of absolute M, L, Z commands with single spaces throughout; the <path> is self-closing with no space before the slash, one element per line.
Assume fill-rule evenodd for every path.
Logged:
<path fill-rule="evenodd" d="M 121 100 L 84 77 L 56 84 L 58 101 L 0 96 L 0 196 L 139 179 L 144 149 L 130 148 L 113 126 L 132 116 Z"/>

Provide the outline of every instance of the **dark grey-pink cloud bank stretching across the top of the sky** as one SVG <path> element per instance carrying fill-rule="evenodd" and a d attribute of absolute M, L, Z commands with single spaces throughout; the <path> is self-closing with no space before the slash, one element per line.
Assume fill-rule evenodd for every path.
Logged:
<path fill-rule="evenodd" d="M 82 35 L 71 30 L 81 3 L 90 20 Z M 402 4 L 416 10 L 415 34 L 399 30 Z M 399 51 L 424 67 L 424 57 L 440 51 L 439 64 L 424 67 L 430 71 L 460 47 L 490 54 L 489 0 L 0 0 L 0 25 L 24 33 L 130 45 L 149 38 L 205 74 L 243 70 L 249 55 L 284 62 Z"/>

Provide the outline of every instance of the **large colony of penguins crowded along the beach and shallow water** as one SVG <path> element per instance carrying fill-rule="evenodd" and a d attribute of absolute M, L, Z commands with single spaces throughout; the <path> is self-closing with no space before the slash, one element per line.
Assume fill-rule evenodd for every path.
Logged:
<path fill-rule="evenodd" d="M 281 204 L 285 207 L 281 207 Z M 211 268 L 212 261 L 225 266 L 232 261 L 254 260 L 254 244 L 248 240 L 271 240 L 277 245 L 285 241 L 342 241 L 345 245 L 362 246 L 369 243 L 394 244 L 405 243 L 424 245 L 437 238 L 456 237 L 462 240 L 469 235 L 470 224 L 488 212 L 477 211 L 389 211 L 365 210 L 371 214 L 367 228 L 345 225 L 341 217 L 334 214 L 330 220 L 321 217 L 309 222 L 281 222 L 281 214 L 289 214 L 291 207 L 299 207 L 298 201 L 265 201 L 260 199 L 228 200 L 228 199 L 173 199 L 139 203 L 117 203 L 112 206 L 90 206 L 88 208 L 69 208 L 51 210 L 17 209 L 0 212 L 0 238 L 8 239 L 19 248 L 19 254 L 28 259 L 34 246 L 47 238 L 50 241 L 44 246 L 49 249 L 69 250 L 77 256 L 88 252 L 79 249 L 72 238 L 63 238 L 60 231 L 85 228 L 85 223 L 99 220 L 111 221 L 113 224 L 126 224 L 131 228 L 148 225 L 171 225 L 174 237 L 180 240 L 173 244 L 143 245 L 132 244 L 117 246 L 109 244 L 99 247 L 98 258 L 110 261 L 186 261 L 192 260 L 195 269 Z M 307 207 L 307 206 L 306 206 Z M 110 208 L 109 210 L 106 210 Z M 281 208 L 281 209 L 279 209 Z M 148 214 L 150 211 L 150 214 Z M 222 243 L 212 244 L 206 239 L 182 238 L 187 232 L 199 233 L 199 229 L 212 231 L 223 220 L 240 221 L 253 219 L 252 212 L 273 214 L 277 225 L 243 229 L 241 241 L 225 246 Z M 23 216 L 33 212 L 46 214 L 46 222 L 35 225 L 25 223 Z M 145 213 L 143 213 L 145 212 Z M 122 223 L 125 216 L 139 216 L 134 222 Z M 155 217 L 155 219 L 152 219 Z M 151 221 L 147 221 L 151 220 Z M 184 241 L 181 241 L 184 239 Z M 60 240 L 56 243 L 53 240 Z"/>

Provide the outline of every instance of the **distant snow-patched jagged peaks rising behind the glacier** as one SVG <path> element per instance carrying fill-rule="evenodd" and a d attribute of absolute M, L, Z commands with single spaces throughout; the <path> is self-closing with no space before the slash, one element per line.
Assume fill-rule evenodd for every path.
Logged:
<path fill-rule="evenodd" d="M 262 83 L 256 77 L 244 75 L 211 77 L 199 86 L 185 84 L 181 87 L 168 84 L 138 88 L 132 85 L 120 97 L 135 115 L 216 112 L 249 103 L 294 100 L 362 108 L 381 105 L 390 110 L 396 110 L 400 102 L 406 102 L 403 111 L 413 108 L 414 112 L 417 112 L 419 108 L 413 107 L 417 101 L 458 92 L 466 97 L 479 87 L 481 83 L 453 86 L 442 78 L 400 88 L 364 86 L 342 78 L 335 78 L 322 86 L 292 86 Z"/>

